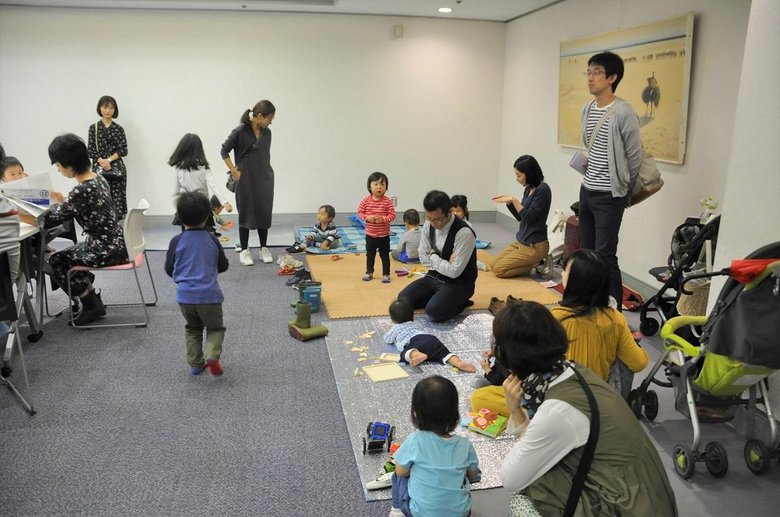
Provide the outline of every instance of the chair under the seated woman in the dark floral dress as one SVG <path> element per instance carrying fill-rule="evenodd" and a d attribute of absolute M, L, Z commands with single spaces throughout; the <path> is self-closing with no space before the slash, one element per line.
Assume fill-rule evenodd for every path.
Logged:
<path fill-rule="evenodd" d="M 140 302 L 131 303 L 104 303 L 106 307 L 141 307 L 144 310 L 144 319 L 141 321 L 132 321 L 126 323 L 90 323 L 88 325 L 76 325 L 75 319 L 78 315 L 73 311 L 70 311 L 70 324 L 74 328 L 79 329 L 91 329 L 91 328 L 103 328 L 103 327 L 145 327 L 149 323 L 149 311 L 147 307 L 154 307 L 157 304 L 157 288 L 154 285 L 154 278 L 152 277 L 152 269 L 149 266 L 149 261 L 146 256 L 146 240 L 143 234 L 144 225 L 144 212 L 149 208 L 149 203 L 142 199 L 138 203 L 138 207 L 131 208 L 125 217 L 124 232 L 125 232 L 125 246 L 127 247 L 127 256 L 130 260 L 126 264 L 119 264 L 116 266 L 105 267 L 89 267 L 89 266 L 74 266 L 68 270 L 68 292 L 71 292 L 70 280 L 74 273 L 77 271 L 132 271 L 135 277 L 135 284 L 138 287 L 138 294 L 141 298 Z M 138 277 L 138 270 L 146 264 L 146 270 L 149 274 L 149 281 L 152 285 L 152 291 L 154 293 L 153 301 L 146 301 L 144 298 L 144 291 L 141 287 L 141 281 Z"/>

